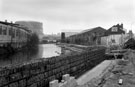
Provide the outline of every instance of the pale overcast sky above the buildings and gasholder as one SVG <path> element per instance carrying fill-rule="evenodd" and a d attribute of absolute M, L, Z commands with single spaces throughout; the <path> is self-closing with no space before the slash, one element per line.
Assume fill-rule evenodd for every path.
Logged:
<path fill-rule="evenodd" d="M 117 23 L 135 33 L 135 0 L 0 0 L 0 21 L 39 21 L 44 34 Z"/>

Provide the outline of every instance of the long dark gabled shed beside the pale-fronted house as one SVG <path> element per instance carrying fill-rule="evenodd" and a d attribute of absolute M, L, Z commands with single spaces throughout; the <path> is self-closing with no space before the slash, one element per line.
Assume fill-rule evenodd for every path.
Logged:
<path fill-rule="evenodd" d="M 78 34 L 72 35 L 67 38 L 69 43 L 81 44 L 81 45 L 100 45 L 101 36 L 104 35 L 106 29 L 102 27 L 95 27 L 87 29 Z"/>

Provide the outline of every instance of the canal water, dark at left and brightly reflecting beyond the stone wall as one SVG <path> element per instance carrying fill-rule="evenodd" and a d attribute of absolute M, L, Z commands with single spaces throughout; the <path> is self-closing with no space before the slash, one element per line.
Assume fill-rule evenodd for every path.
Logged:
<path fill-rule="evenodd" d="M 29 62 L 37 58 L 48 58 L 52 56 L 59 56 L 61 48 L 55 44 L 42 44 L 31 50 L 24 50 L 17 52 L 14 55 L 0 56 L 0 66 L 7 66 L 11 64 L 21 64 Z"/>

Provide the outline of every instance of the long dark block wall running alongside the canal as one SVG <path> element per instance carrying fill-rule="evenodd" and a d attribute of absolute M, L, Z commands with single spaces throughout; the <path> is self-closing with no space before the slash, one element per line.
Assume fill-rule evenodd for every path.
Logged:
<path fill-rule="evenodd" d="M 105 49 L 69 56 L 38 59 L 0 70 L 0 87 L 48 87 L 49 82 L 70 74 L 75 78 L 105 59 Z"/>

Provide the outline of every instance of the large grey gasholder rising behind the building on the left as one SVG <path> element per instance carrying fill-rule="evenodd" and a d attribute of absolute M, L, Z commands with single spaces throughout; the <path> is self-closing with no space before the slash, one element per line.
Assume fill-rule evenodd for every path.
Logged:
<path fill-rule="evenodd" d="M 42 39 L 43 34 L 43 23 L 36 21 L 16 21 L 16 24 L 28 27 L 32 32 L 36 33 L 39 36 L 39 39 Z"/>

